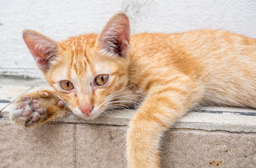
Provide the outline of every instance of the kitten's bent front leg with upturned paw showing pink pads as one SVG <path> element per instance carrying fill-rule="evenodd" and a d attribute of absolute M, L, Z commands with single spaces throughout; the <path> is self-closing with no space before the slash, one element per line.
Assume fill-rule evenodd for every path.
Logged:
<path fill-rule="evenodd" d="M 65 116 L 68 109 L 59 106 L 60 103 L 52 91 L 25 94 L 15 101 L 10 118 L 15 124 L 27 128 L 37 126 Z"/>

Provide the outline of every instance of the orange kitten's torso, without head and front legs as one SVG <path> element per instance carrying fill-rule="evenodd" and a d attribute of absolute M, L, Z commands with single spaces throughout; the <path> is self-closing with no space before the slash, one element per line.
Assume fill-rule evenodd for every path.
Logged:
<path fill-rule="evenodd" d="M 202 105 L 256 108 L 255 39 L 222 30 L 144 33 L 131 37 L 129 57 L 130 84 L 143 93 L 150 83 L 168 85 L 184 75 L 199 88 Z"/>

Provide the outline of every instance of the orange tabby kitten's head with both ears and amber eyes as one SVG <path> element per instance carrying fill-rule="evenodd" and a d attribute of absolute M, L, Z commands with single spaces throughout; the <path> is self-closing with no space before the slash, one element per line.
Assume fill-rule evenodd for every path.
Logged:
<path fill-rule="evenodd" d="M 36 65 L 56 94 L 76 115 L 94 119 L 115 107 L 128 82 L 130 25 L 117 13 L 101 33 L 56 42 L 36 31 L 23 31 Z"/>

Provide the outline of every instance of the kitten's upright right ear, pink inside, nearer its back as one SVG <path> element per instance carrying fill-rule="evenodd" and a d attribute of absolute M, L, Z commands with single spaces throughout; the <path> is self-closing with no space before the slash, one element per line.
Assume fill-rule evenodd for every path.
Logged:
<path fill-rule="evenodd" d="M 97 43 L 103 51 L 125 57 L 130 49 L 130 22 L 124 12 L 112 16 L 101 33 Z"/>

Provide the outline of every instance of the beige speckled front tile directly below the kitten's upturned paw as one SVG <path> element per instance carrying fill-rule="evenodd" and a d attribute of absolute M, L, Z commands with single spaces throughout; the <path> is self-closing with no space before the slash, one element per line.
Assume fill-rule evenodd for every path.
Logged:
<path fill-rule="evenodd" d="M 74 167 L 74 124 L 46 124 L 26 130 L 1 119 L 0 127 L 0 167 Z"/>

